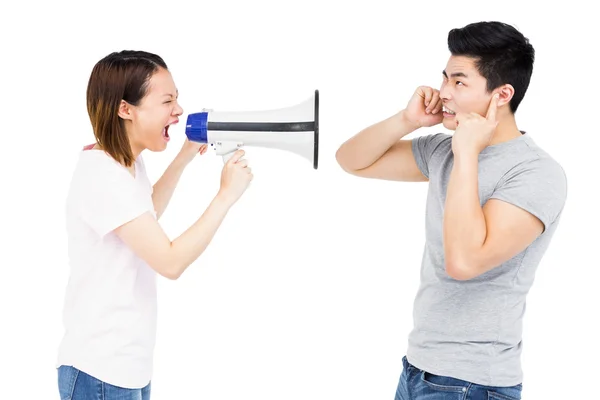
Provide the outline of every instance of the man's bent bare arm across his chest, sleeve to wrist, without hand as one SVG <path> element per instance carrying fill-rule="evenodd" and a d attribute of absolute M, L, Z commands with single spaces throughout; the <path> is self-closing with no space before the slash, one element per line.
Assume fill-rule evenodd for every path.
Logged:
<path fill-rule="evenodd" d="M 444 209 L 446 271 L 473 279 L 519 254 L 544 230 L 533 214 L 490 199 L 480 206 L 478 155 L 455 157 Z"/>

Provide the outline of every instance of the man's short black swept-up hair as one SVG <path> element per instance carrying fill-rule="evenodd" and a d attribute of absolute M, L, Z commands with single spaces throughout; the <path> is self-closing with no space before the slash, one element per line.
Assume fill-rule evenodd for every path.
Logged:
<path fill-rule="evenodd" d="M 454 56 L 474 58 L 479 73 L 487 80 L 487 90 L 510 84 L 515 93 L 510 100 L 513 114 L 525 96 L 535 51 L 521 32 L 502 22 L 476 22 L 448 33 L 448 49 Z"/>

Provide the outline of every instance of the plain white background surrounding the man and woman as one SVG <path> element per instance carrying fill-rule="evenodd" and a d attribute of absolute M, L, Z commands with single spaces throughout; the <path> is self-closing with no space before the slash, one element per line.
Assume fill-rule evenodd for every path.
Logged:
<path fill-rule="evenodd" d="M 402 4 L 405 3 L 405 4 Z M 597 21 L 583 2 L 211 1 L 3 5 L 0 398 L 58 399 L 68 279 L 64 200 L 93 141 L 85 89 L 112 51 L 161 55 L 184 108 L 287 107 L 320 91 L 319 169 L 247 148 L 255 179 L 210 248 L 159 279 L 152 399 L 393 399 L 412 327 L 426 184 L 369 181 L 338 146 L 439 87 L 450 29 L 516 25 L 536 49 L 517 122 L 561 163 L 569 194 L 527 302 L 524 399 L 597 394 Z M 587 6 L 586 6 L 587 7 Z M 145 153 L 155 181 L 184 139 Z M 435 133 L 438 126 L 411 135 Z M 161 219 L 175 238 L 218 190 L 198 157 Z"/>

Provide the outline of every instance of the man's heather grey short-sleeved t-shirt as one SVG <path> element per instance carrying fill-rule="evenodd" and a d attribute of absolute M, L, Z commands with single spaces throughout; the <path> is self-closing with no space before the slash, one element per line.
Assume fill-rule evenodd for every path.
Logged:
<path fill-rule="evenodd" d="M 525 209 L 544 232 L 523 252 L 467 281 L 445 271 L 443 213 L 453 165 L 452 136 L 417 137 L 412 150 L 429 178 L 425 249 L 408 361 L 435 375 L 488 386 L 522 382 L 522 322 L 535 271 L 558 225 L 567 195 L 562 167 L 528 134 L 486 147 L 479 155 L 479 199 Z"/>

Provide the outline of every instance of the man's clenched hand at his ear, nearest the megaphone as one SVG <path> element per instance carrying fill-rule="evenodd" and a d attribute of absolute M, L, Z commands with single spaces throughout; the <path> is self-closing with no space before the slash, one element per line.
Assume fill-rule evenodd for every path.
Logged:
<path fill-rule="evenodd" d="M 419 86 L 402 114 L 408 124 L 418 129 L 441 123 L 444 118 L 441 111 L 440 91 L 428 86 Z"/>

